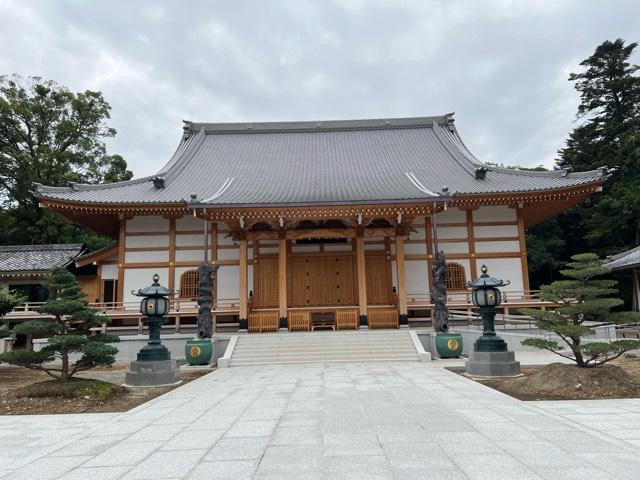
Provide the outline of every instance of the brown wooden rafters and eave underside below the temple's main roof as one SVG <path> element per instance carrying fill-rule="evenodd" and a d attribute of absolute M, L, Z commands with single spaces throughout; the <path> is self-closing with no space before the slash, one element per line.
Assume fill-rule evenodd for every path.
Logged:
<path fill-rule="evenodd" d="M 604 181 L 604 180 L 603 180 Z M 565 210 L 589 195 L 601 191 L 603 181 L 578 187 L 495 194 L 460 194 L 449 198 L 423 201 L 362 205 L 284 205 L 284 206 L 218 206 L 174 204 L 86 204 L 52 199 L 40 199 L 40 204 L 51 208 L 69 220 L 97 231 L 111 231 L 106 223 L 112 219 L 130 218 L 135 215 L 162 215 L 175 218 L 193 215 L 212 222 L 221 222 L 232 231 L 247 231 L 256 223 L 268 223 L 274 230 L 291 228 L 299 220 L 346 219 L 350 226 L 366 226 L 373 219 L 386 219 L 398 229 L 405 229 L 417 217 L 430 216 L 433 210 L 445 208 L 474 209 L 487 205 L 508 205 L 523 210 L 526 226 L 549 218 Z M 206 209 L 206 214 L 205 214 Z M 100 224 L 105 223 L 104 228 Z M 117 223 L 117 222 L 115 222 Z"/>

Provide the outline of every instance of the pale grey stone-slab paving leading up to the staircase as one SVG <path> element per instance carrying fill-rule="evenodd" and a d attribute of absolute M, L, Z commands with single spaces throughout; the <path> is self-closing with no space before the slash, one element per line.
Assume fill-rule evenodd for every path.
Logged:
<path fill-rule="evenodd" d="M 636 479 L 638 432 L 640 400 L 524 403 L 435 362 L 243 367 L 124 414 L 0 417 L 0 478 Z"/>

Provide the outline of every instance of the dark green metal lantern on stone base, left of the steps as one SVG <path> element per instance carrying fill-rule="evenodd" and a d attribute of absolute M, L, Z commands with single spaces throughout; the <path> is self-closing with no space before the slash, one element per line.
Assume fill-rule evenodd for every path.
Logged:
<path fill-rule="evenodd" d="M 169 296 L 175 291 L 163 287 L 159 283 L 160 277 L 156 273 L 153 283 L 137 292 L 142 297 L 140 313 L 145 315 L 145 322 L 149 327 L 149 342 L 140 349 L 137 361 L 131 362 L 126 376 L 126 384 L 133 387 L 147 387 L 158 385 L 172 385 L 180 382 L 180 370 L 176 361 L 171 359 L 167 347 L 160 341 L 160 328 L 169 313 Z"/>

